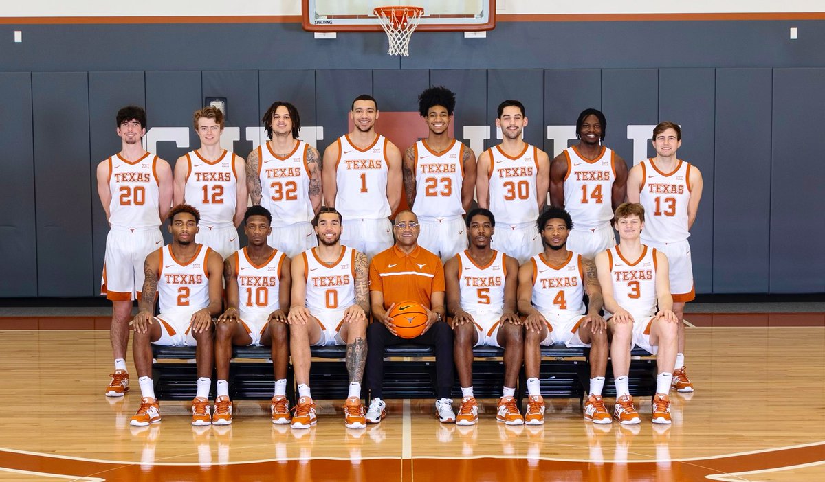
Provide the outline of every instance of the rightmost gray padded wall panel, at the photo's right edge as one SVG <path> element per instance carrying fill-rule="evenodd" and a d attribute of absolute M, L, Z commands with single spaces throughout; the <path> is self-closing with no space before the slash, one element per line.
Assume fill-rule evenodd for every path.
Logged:
<path fill-rule="evenodd" d="M 825 292 L 825 158 L 808 136 L 825 124 L 823 86 L 825 68 L 774 70 L 771 292 Z"/>

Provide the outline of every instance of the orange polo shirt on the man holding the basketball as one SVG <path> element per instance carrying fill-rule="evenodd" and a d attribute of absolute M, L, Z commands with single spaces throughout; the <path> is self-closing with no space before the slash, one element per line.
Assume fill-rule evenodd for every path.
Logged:
<path fill-rule="evenodd" d="M 445 290 L 441 259 L 421 246 L 407 255 L 393 245 L 370 263 L 370 291 L 384 293 L 385 310 L 393 303 L 406 301 L 431 308 L 432 293 Z"/>

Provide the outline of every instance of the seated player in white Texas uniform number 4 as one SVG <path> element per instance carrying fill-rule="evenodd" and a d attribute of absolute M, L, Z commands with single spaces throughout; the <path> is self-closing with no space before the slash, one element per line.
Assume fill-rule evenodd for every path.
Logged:
<path fill-rule="evenodd" d="M 610 413 L 601 400 L 607 367 L 607 327 L 599 315 L 603 306 L 601 287 L 592 260 L 567 249 L 573 228 L 570 214 L 548 208 L 536 223 L 544 252 L 519 269 L 518 308 L 525 320 L 524 370 L 529 400 L 526 424 L 544 424 L 544 399 L 539 370 L 540 345 L 563 343 L 590 349 L 590 391 L 584 418 L 610 424 Z M 584 307 L 584 295 L 589 303 Z"/>

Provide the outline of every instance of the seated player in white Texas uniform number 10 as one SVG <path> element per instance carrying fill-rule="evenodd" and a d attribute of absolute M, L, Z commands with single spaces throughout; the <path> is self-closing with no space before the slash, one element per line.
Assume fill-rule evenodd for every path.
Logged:
<path fill-rule="evenodd" d="M 218 393 L 212 423 L 232 423 L 229 400 L 229 360 L 232 346 L 269 346 L 275 371 L 275 395 L 270 412 L 273 424 L 290 421 L 286 400 L 286 366 L 290 361 L 285 309 L 290 306 L 290 259 L 269 246 L 271 214 L 262 206 L 247 208 L 243 232 L 249 241 L 224 261 L 226 311 L 215 324 L 214 363 Z"/>

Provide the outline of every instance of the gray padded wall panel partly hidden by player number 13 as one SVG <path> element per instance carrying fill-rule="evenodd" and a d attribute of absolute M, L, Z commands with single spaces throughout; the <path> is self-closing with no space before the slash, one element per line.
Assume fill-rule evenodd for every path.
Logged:
<path fill-rule="evenodd" d="M 659 71 L 659 120 L 672 120 L 681 125 L 678 157 L 698 167 L 704 180 L 690 238 L 693 279 L 700 292 L 713 289 L 714 93 L 712 68 Z"/>

